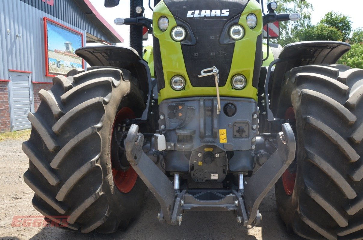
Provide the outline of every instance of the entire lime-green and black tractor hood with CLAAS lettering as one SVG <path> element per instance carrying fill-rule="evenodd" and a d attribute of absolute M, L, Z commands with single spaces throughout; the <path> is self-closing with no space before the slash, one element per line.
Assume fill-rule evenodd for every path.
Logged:
<path fill-rule="evenodd" d="M 249 28 L 253 14 L 257 24 Z M 160 29 L 159 20 L 166 29 Z M 215 66 L 219 70 L 219 93 L 226 97 L 257 99 L 262 63 L 262 9 L 254 0 L 163 0 L 154 8 L 153 47 L 159 102 L 176 97 L 216 96 L 213 76 L 199 77 Z M 231 37 L 232 27 L 243 29 L 241 38 Z M 181 31 L 181 41 L 175 32 Z M 180 30 L 182 29 L 182 30 Z M 255 67 L 256 66 L 256 67 Z M 234 88 L 236 76 L 245 77 L 244 88 Z M 184 79 L 182 89 L 172 88 L 174 77 Z"/>

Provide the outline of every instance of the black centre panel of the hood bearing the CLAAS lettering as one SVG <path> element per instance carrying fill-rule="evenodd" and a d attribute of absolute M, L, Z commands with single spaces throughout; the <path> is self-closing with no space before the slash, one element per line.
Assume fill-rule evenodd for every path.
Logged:
<path fill-rule="evenodd" d="M 164 0 L 179 25 L 188 25 L 191 38 L 181 42 L 185 68 L 193 87 L 211 87 L 214 77 L 201 80 L 205 68 L 216 66 L 220 86 L 227 82 L 231 68 L 234 41 L 223 42 L 222 29 L 228 21 L 239 18 L 248 0 Z M 237 19 L 238 22 L 238 19 Z M 228 30 L 225 31 L 228 34 Z M 196 39 L 196 43 L 193 41 Z M 189 40 L 189 42 L 188 42 Z M 221 40 L 221 41 L 220 41 Z"/>

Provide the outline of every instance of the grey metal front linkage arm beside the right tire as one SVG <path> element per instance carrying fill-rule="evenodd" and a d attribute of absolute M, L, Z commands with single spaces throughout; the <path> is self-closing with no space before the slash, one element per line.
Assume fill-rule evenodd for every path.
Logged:
<path fill-rule="evenodd" d="M 277 134 L 277 151 L 249 179 L 244 190 L 248 225 L 256 219 L 258 206 L 295 158 L 296 142 L 289 123 Z"/>

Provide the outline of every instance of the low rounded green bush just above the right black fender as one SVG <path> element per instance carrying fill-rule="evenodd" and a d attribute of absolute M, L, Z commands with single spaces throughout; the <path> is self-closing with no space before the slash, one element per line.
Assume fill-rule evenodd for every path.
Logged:
<path fill-rule="evenodd" d="M 343 34 L 336 28 L 320 23 L 295 31 L 294 37 L 298 41 L 342 41 Z"/>

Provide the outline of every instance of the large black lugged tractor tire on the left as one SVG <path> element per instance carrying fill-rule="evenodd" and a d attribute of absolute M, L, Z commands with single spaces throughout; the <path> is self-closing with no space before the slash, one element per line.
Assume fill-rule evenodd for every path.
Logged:
<path fill-rule="evenodd" d="M 133 172 L 133 180 L 124 182 L 129 190 L 120 191 L 110 158 L 116 114 L 128 109 L 140 116 L 145 108 L 131 78 L 115 68 L 72 70 L 54 77 L 50 90 L 40 90 L 39 108 L 28 115 L 30 138 L 23 143 L 29 157 L 24 181 L 47 222 L 111 233 L 126 228 L 139 212 L 146 186 Z"/>

